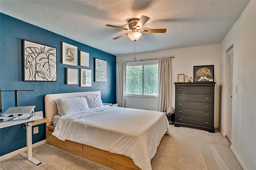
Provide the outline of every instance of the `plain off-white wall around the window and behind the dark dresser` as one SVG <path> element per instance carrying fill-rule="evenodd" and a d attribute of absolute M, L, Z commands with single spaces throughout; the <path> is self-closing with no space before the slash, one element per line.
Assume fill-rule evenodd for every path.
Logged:
<path fill-rule="evenodd" d="M 140 42 L 139 42 L 140 43 Z M 141 42 L 143 43 L 143 42 Z M 214 107 L 214 126 L 218 127 L 218 103 L 219 103 L 219 75 L 220 75 L 220 44 L 204 45 L 198 47 L 187 47 L 179 49 L 168 49 L 161 51 L 151 51 L 145 53 L 136 53 L 136 60 L 140 59 L 154 59 L 161 57 L 172 57 L 172 107 L 175 107 L 175 86 L 178 74 L 185 74 L 188 77 L 194 77 L 193 71 L 196 65 L 214 65 L 214 81 L 215 85 L 215 107 Z M 116 61 L 132 61 L 134 54 L 118 55 Z M 157 62 L 158 60 L 148 60 L 143 62 Z M 128 62 L 127 64 L 134 64 L 137 62 Z M 158 110 L 158 99 L 147 97 L 126 97 L 125 107 Z"/>

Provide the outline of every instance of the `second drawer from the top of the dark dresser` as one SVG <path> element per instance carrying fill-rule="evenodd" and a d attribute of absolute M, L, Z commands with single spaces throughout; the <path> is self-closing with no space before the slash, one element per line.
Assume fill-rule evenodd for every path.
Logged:
<path fill-rule="evenodd" d="M 190 95 L 178 93 L 176 94 L 176 100 L 212 102 L 212 95 Z"/>

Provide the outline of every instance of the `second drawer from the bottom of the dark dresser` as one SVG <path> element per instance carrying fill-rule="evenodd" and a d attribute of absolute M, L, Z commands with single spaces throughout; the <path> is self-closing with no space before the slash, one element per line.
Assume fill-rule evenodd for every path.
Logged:
<path fill-rule="evenodd" d="M 175 114 L 178 116 L 192 116 L 212 119 L 212 111 L 177 108 Z"/>

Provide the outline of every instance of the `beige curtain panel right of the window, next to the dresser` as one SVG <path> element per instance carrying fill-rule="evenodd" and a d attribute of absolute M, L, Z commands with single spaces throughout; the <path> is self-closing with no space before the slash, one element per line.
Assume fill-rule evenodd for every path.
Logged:
<path fill-rule="evenodd" d="M 158 107 L 166 111 L 172 106 L 172 69 L 171 58 L 158 59 Z"/>

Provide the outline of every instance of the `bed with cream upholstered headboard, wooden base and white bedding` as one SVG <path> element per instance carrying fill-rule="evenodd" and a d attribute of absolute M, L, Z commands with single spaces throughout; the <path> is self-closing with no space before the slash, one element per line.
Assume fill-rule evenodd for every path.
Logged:
<path fill-rule="evenodd" d="M 113 169 L 151 169 L 150 162 L 160 142 L 170 134 L 164 113 L 100 106 L 59 116 L 53 125 L 58 115 L 56 99 L 89 95 L 100 95 L 100 91 L 45 96 L 49 119 L 46 143 Z"/>

